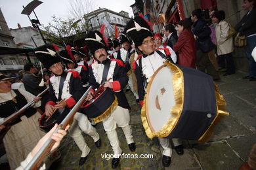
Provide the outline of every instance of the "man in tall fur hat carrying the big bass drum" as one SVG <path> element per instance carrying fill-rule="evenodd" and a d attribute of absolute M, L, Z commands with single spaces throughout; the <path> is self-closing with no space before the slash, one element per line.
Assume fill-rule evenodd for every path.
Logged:
<path fill-rule="evenodd" d="M 138 33 L 139 31 L 139 33 Z M 145 90 L 148 82 L 150 81 L 151 76 L 154 72 L 163 65 L 163 62 L 166 59 L 171 60 L 171 53 L 168 48 L 162 50 L 155 50 L 154 39 L 150 25 L 141 18 L 136 16 L 133 20 L 130 20 L 127 23 L 125 32 L 133 42 L 137 50 L 142 52 L 137 59 L 133 62 L 133 69 L 135 69 L 135 74 L 137 77 L 138 93 L 140 99 L 140 105 L 143 105 L 143 99 L 145 95 Z M 143 69 L 142 69 L 143 68 Z M 169 167 L 171 164 L 171 146 L 169 139 L 159 138 L 160 144 L 163 147 L 163 159 L 162 163 L 164 167 Z M 177 154 L 183 154 L 183 146 L 180 139 L 173 139 L 173 144 Z"/>

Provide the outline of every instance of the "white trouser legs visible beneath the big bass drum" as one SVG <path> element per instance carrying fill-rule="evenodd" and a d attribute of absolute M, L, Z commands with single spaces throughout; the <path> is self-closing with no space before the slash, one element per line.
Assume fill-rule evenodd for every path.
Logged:
<path fill-rule="evenodd" d="M 163 155 L 165 156 L 170 156 L 173 153 L 172 149 L 171 149 L 171 145 L 170 145 L 170 140 L 167 138 L 160 138 L 158 137 L 161 146 L 163 147 Z M 182 144 L 181 139 L 177 139 L 177 138 L 173 138 L 173 145 L 174 146 L 179 146 Z"/>

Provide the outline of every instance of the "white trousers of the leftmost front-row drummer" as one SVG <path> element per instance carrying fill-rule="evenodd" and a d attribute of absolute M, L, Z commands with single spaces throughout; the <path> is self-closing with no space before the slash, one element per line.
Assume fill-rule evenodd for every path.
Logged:
<path fill-rule="evenodd" d="M 95 142 L 100 139 L 96 129 L 91 126 L 89 120 L 87 119 L 87 116 L 77 112 L 74 116 L 74 122 L 68 131 L 70 132 L 70 136 L 74 139 L 75 144 L 77 144 L 78 148 L 81 150 L 81 157 L 85 157 L 89 154 L 91 149 L 85 143 L 81 130 L 93 137 L 93 141 Z"/>

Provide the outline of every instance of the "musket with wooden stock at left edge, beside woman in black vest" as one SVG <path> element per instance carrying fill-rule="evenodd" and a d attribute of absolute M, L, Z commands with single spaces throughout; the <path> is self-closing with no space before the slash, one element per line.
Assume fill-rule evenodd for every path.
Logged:
<path fill-rule="evenodd" d="M 43 90 L 43 92 L 39 93 L 37 95 L 37 97 L 41 97 L 41 95 L 45 94 L 48 90 L 49 90 L 49 88 L 46 88 L 45 90 Z M 3 139 L 3 137 L 5 137 L 5 134 L 11 128 L 11 122 L 13 120 L 15 120 L 20 114 L 25 112 L 26 109 L 28 109 L 31 105 L 33 105 L 33 103 L 35 103 L 34 100 L 30 101 L 28 104 L 24 105 L 24 107 L 22 107 L 22 109 L 18 110 L 17 112 L 14 112 L 13 114 L 11 114 L 10 116 L 8 116 L 7 118 L 5 118 L 3 120 L 3 122 L 0 124 L 0 126 L 4 125 L 5 129 L 2 129 L 0 131 L 0 141 Z"/>

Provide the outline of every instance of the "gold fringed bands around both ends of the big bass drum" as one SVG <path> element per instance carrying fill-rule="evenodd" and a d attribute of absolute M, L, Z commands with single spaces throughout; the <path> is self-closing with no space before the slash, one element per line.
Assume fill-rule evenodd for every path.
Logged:
<path fill-rule="evenodd" d="M 147 115 L 148 113 L 148 97 L 147 96 L 149 95 L 150 86 L 152 84 L 152 81 L 154 80 L 154 76 L 163 67 L 169 67 L 173 72 L 173 90 L 174 90 L 173 93 L 174 93 L 176 105 L 170 110 L 170 114 L 172 114 L 173 117 L 167 120 L 167 123 L 163 127 L 161 127 L 160 131 L 154 131 L 154 128 L 151 126 L 151 123 L 150 123 L 150 118 Z M 218 124 L 223 119 L 224 116 L 229 115 L 228 112 L 225 111 L 226 102 L 223 99 L 223 95 L 219 93 L 219 90 L 215 84 L 214 86 L 215 86 L 215 98 L 216 98 L 216 104 L 217 104 L 217 115 L 215 116 L 215 119 L 213 120 L 213 122 L 211 122 L 211 125 L 209 126 L 207 131 L 205 131 L 205 133 L 203 133 L 203 135 L 198 139 L 198 141 L 200 142 L 205 142 L 207 139 L 209 139 L 209 137 L 212 134 L 213 127 L 216 124 Z M 167 137 L 173 131 L 174 127 L 177 125 L 177 122 L 179 121 L 179 118 L 181 116 L 182 109 L 183 109 L 183 104 L 184 104 L 183 73 L 181 69 L 179 69 L 179 67 L 177 67 L 174 64 L 171 64 L 171 62 L 169 61 L 165 61 L 165 63 L 163 63 L 163 65 L 159 67 L 158 70 L 156 70 L 152 78 L 150 78 L 150 82 L 148 83 L 148 86 L 146 88 L 146 95 L 144 96 L 144 104 L 141 109 L 141 119 L 142 119 L 142 124 L 145 129 L 146 135 L 150 139 L 152 139 L 153 137 Z"/>

